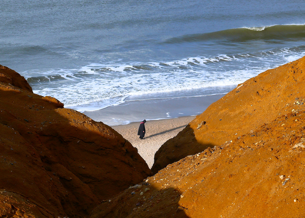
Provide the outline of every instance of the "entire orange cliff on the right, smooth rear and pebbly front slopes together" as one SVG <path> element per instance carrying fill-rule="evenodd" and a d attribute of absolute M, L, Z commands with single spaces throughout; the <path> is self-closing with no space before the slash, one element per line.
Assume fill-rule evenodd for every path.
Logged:
<path fill-rule="evenodd" d="M 304 59 L 268 70 L 212 104 L 161 147 L 172 151 L 175 142 L 187 155 L 196 139 L 199 152 L 103 202 L 91 218 L 304 217 Z"/>

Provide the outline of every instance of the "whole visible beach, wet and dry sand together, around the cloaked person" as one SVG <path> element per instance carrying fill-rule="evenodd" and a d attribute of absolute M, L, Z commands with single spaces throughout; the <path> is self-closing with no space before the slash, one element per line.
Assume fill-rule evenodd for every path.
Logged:
<path fill-rule="evenodd" d="M 167 95 L 171 94 L 167 93 Z M 203 113 L 210 104 L 224 95 L 193 95 L 178 98 L 171 95 L 172 97 L 169 98 L 159 96 L 158 99 L 151 99 L 147 94 L 136 96 L 136 99 L 129 98 L 122 104 L 101 110 L 85 111 L 84 114 L 97 122 L 109 125 L 120 133 L 138 149 L 138 153 L 151 168 L 155 153 L 161 145 L 176 136 L 198 114 Z M 139 125 L 144 119 L 146 134 L 141 140 L 137 134 Z"/>

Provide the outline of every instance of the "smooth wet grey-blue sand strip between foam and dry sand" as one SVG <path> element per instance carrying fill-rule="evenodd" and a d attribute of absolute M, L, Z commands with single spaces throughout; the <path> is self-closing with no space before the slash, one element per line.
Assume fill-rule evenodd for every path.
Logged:
<path fill-rule="evenodd" d="M 83 114 L 97 122 L 109 126 L 128 125 L 142 120 L 155 121 L 196 116 L 225 94 L 186 96 L 181 98 L 131 99 L 97 111 L 84 111 Z"/>

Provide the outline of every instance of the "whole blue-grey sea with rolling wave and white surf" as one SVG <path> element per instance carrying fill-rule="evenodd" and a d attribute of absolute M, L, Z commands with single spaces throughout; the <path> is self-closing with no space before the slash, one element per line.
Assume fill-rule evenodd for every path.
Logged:
<path fill-rule="evenodd" d="M 223 93 L 305 55 L 296 0 L 3 0 L 0 9 L 0 64 L 81 112 Z"/>

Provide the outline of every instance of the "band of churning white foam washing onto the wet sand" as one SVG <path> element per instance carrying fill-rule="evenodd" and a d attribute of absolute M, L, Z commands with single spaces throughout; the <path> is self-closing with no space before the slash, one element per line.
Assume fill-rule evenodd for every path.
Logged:
<path fill-rule="evenodd" d="M 32 81 L 37 94 L 54 96 L 65 107 L 92 111 L 121 104 L 127 96 L 150 93 L 155 94 L 152 99 L 157 99 L 160 93 L 237 85 L 260 72 L 304 55 L 302 49 L 287 48 L 166 62 L 92 63 L 80 69 L 37 72 L 34 74 L 38 75 L 37 78 L 32 76 L 27 79 Z"/>

